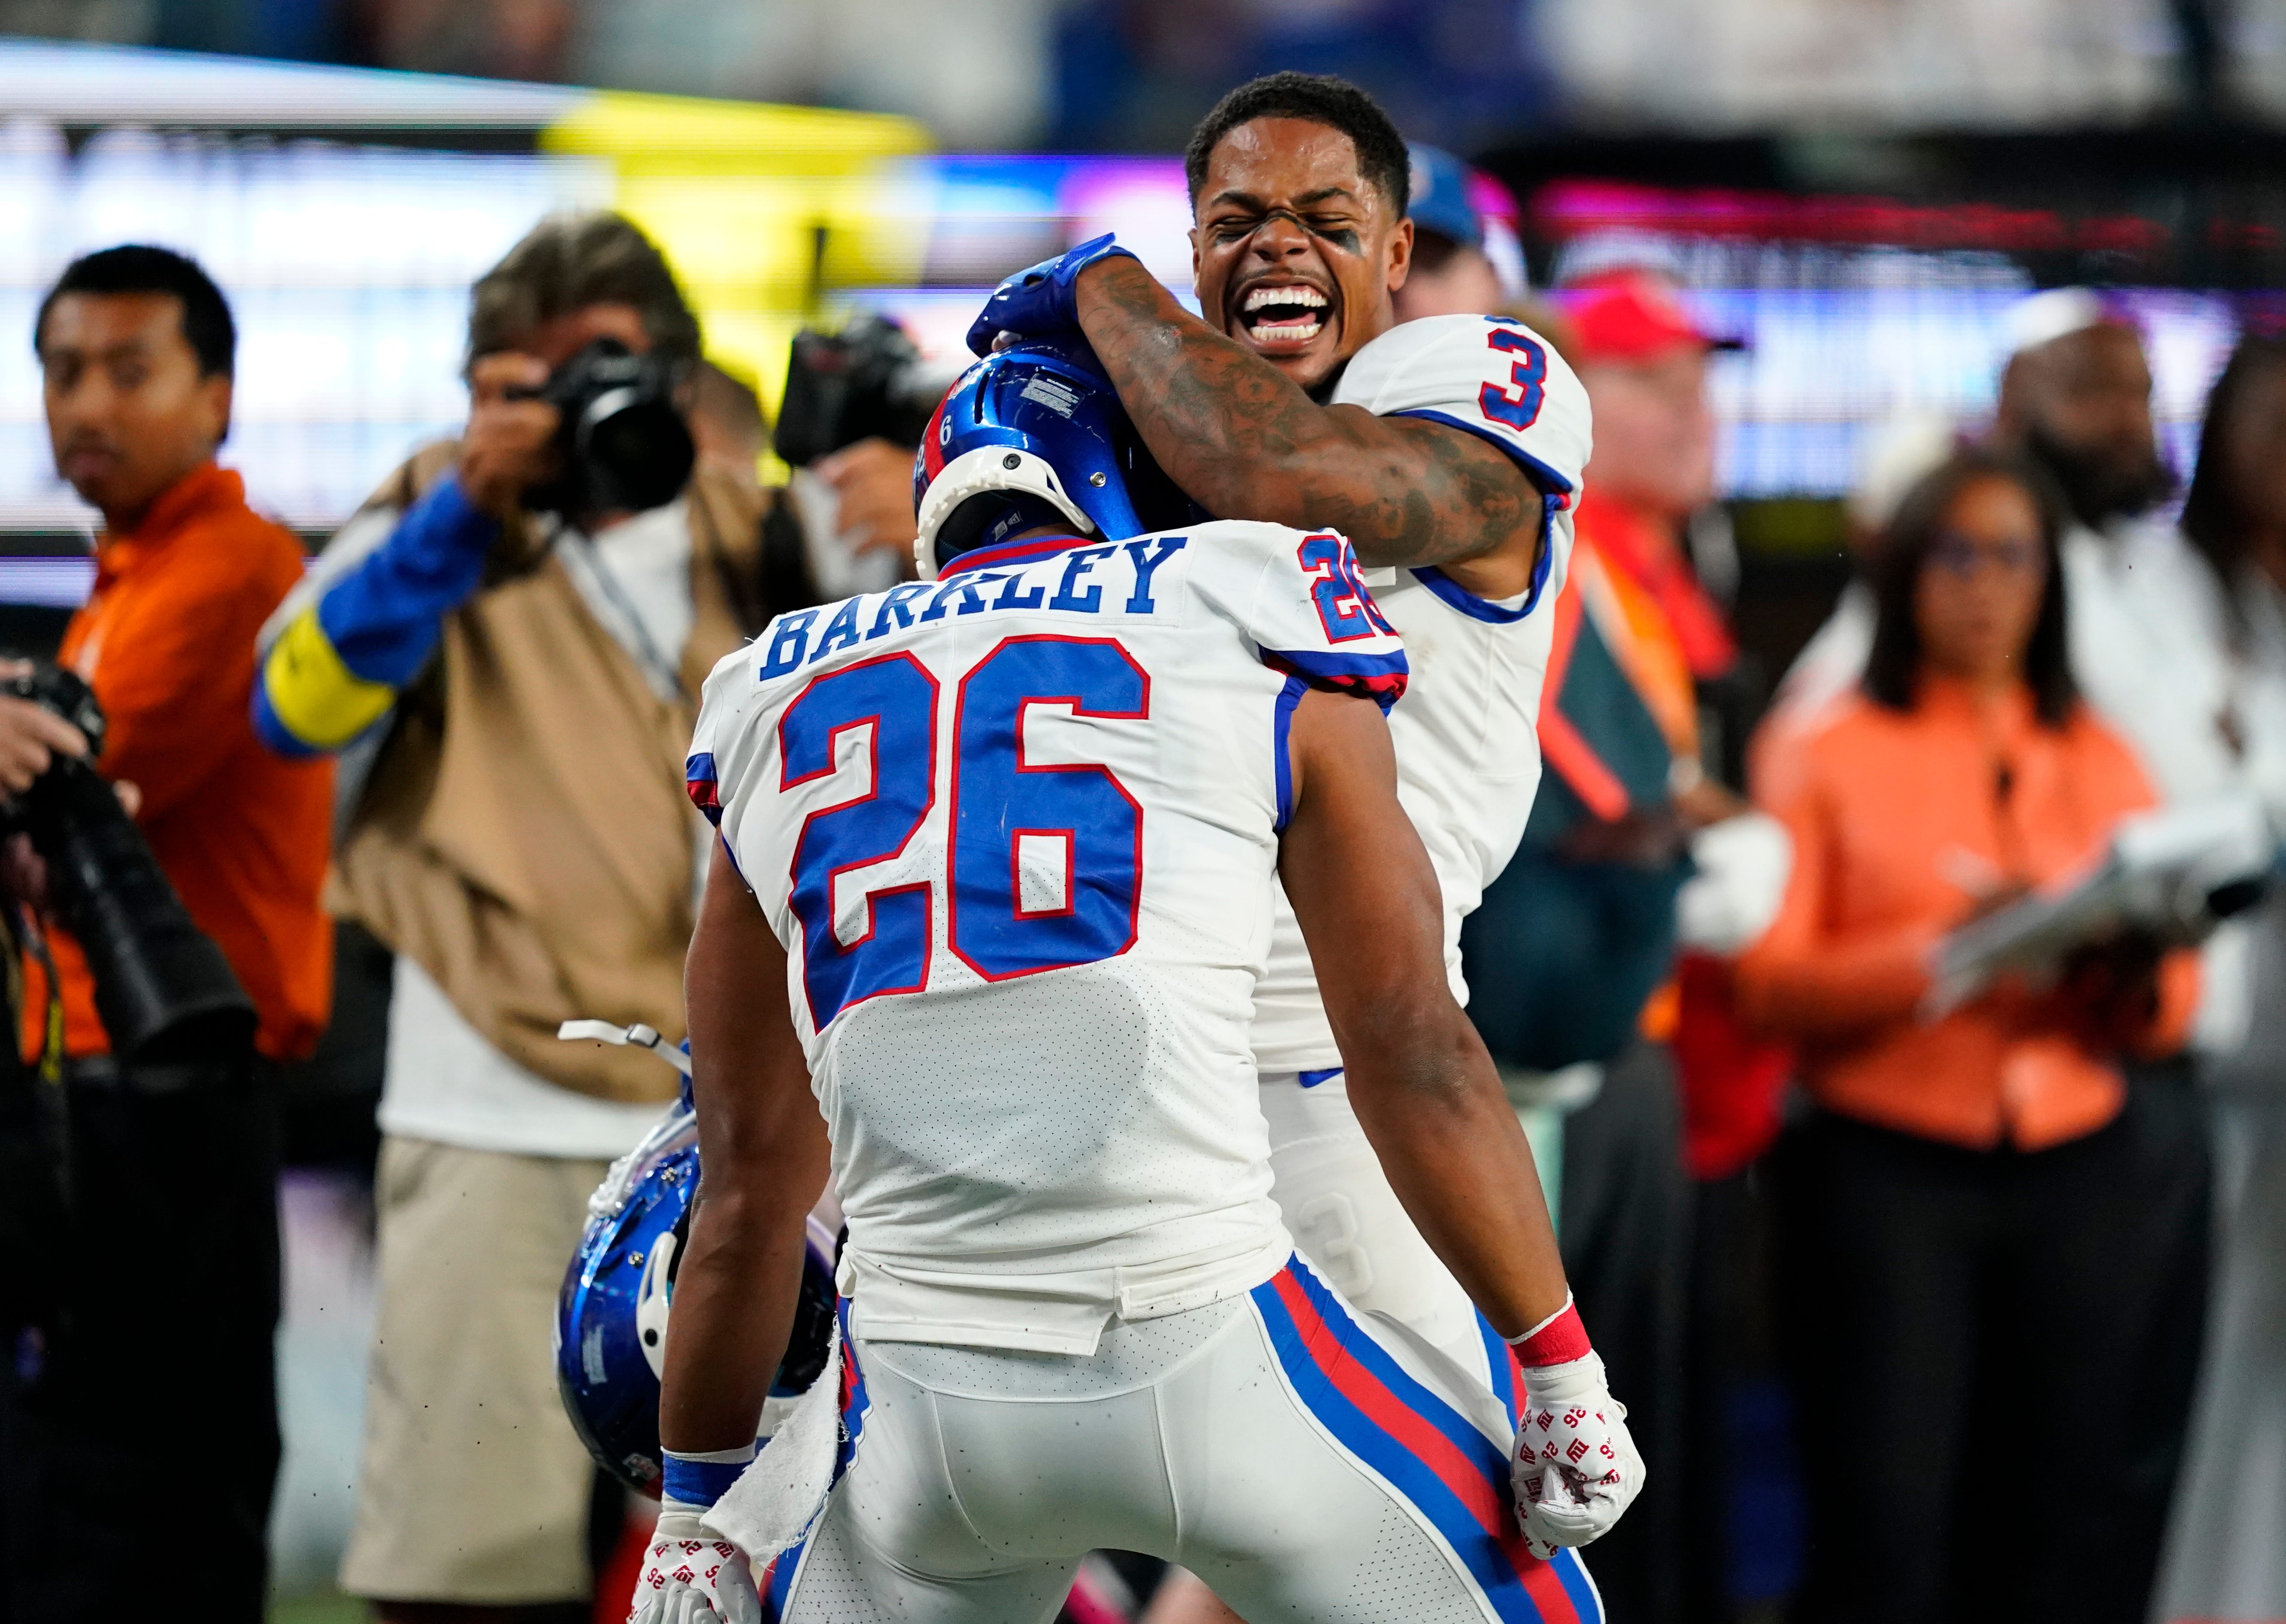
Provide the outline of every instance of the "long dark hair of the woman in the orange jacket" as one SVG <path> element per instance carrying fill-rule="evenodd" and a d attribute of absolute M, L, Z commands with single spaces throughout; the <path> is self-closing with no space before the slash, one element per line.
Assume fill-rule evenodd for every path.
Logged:
<path fill-rule="evenodd" d="M 1911 710 L 1920 683 L 1920 626 L 1913 619 L 1913 596 L 1920 571 L 1929 566 L 1936 537 L 1952 503 L 1977 480 L 2009 480 L 2032 498 L 2039 512 L 2039 550 L 2046 587 L 2039 619 L 2023 651 L 2023 681 L 2032 690 L 2032 710 L 2046 726 L 2071 722 L 2080 690 L 2071 681 L 2071 651 L 2064 642 L 2064 493 L 2037 461 L 1991 445 L 1968 445 L 1904 493 L 1897 516 L 1888 521 L 1872 566 L 1879 605 L 1872 653 L 1865 656 L 1865 697 L 1891 710 Z"/>

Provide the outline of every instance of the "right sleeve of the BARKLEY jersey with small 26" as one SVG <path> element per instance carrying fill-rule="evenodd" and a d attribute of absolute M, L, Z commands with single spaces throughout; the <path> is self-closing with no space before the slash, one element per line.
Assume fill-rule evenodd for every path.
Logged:
<path fill-rule="evenodd" d="M 1193 578 L 1255 642 L 1262 665 L 1383 710 L 1406 692 L 1406 646 L 1342 534 L 1218 523 L 1200 541 L 1207 569 Z"/>

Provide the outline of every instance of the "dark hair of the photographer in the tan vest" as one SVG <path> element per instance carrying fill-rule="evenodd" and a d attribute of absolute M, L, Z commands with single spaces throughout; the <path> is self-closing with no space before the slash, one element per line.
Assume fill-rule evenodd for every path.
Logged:
<path fill-rule="evenodd" d="M 700 317 L 668 258 L 626 215 L 549 215 L 523 233 L 469 297 L 469 361 L 514 349 L 535 327 L 590 304 L 629 304 L 652 347 L 697 365 Z"/>

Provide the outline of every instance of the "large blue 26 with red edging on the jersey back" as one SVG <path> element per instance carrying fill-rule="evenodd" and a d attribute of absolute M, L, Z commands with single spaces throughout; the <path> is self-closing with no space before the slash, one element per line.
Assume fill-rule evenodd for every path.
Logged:
<path fill-rule="evenodd" d="M 898 857 L 935 806 L 937 704 L 919 660 L 889 656 L 816 678 L 780 717 L 780 790 L 830 774 L 834 740 L 873 729 L 869 788 L 809 813 L 793 847 L 789 902 L 814 1028 L 928 984 L 935 882 L 866 891 L 866 927 L 846 943 L 834 884 Z M 960 678 L 946 934 L 985 980 L 1093 964 L 1136 939 L 1143 806 L 1109 767 L 1029 763 L 1033 706 L 1145 719 L 1150 678 L 1118 642 L 1093 637 L 1008 637 Z"/>

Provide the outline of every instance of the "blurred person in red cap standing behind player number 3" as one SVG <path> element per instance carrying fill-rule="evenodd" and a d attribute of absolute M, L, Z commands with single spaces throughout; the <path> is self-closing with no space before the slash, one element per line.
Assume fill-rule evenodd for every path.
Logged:
<path fill-rule="evenodd" d="M 1463 955 L 1479 1026 L 1509 1016 L 1518 1028 L 1518 1042 L 1495 1042 L 1516 1067 L 1511 1096 L 1538 1092 L 1568 1108 L 1564 1254 L 1582 1302 L 1600 1304 L 1598 1327 L 1618 1329 L 1605 1357 L 1630 1370 L 1650 1462 L 1598 1583 L 1612 1617 L 1676 1619 L 1682 1574 L 1710 1567 L 1685 1558 L 1696 1544 L 1685 1505 L 1694 1487 L 1710 1487 L 1692 1482 L 1687 1460 L 1696 1425 L 1685 1416 L 1685 1300 L 1698 1204 L 1689 1174 L 1710 1172 L 1698 1140 L 1721 1151 L 1717 1172 L 1737 1172 L 1763 1128 L 1776 1128 L 1774 1115 L 1763 1124 L 1767 1112 L 1742 1121 L 1717 1112 L 1714 1133 L 1692 1133 L 1708 1112 L 1687 1108 L 1678 1071 L 1712 1048 L 1724 1099 L 1740 1092 L 1728 1085 L 1742 1067 L 1776 1099 L 1785 1055 L 1749 1048 L 1724 1021 L 1728 971 L 1703 950 L 1735 952 L 1767 927 L 1788 841 L 1701 767 L 1701 688 L 1733 672 L 1737 644 L 1692 569 L 1685 528 L 1714 498 L 1708 356 L 1733 345 L 1641 267 L 1575 283 L 1557 302 L 1596 448 L 1541 706 L 1548 781 L 1518 859 L 1486 889 L 1474 934 L 1463 934 Z M 1559 806 L 1570 820 L 1557 820 Z M 1529 948 L 1550 918 L 1573 920 L 1554 962 Z M 1712 1028 L 1685 1019 L 1708 1003 Z M 1582 1087 L 1582 1076 L 1596 1080 Z"/>

